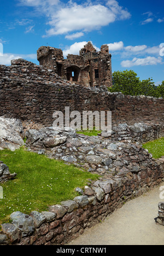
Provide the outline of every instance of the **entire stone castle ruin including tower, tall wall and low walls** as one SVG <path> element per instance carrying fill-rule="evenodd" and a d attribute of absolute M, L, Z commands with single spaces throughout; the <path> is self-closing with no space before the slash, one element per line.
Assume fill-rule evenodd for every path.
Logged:
<path fill-rule="evenodd" d="M 99 175 L 97 181 L 87 183 L 81 196 L 50 205 L 48 211 L 11 213 L 13 222 L 1 225 L 0 244 L 68 244 L 164 180 L 163 158 L 154 159 L 142 147 L 143 142 L 164 134 L 164 99 L 109 92 L 106 85 L 110 85 L 112 77 L 110 57 L 106 46 L 98 54 L 91 43 L 81 49 L 80 55 L 69 54 L 67 59 L 61 49 L 42 46 L 38 50 L 40 65 L 24 59 L 11 60 L 10 66 L 0 65 L 0 150 L 11 147 L 13 142 L 16 148 L 24 145 L 22 135 L 27 131 L 26 150 Z M 90 86 L 99 86 L 99 90 L 91 90 Z M 54 130 L 54 111 L 64 113 L 68 106 L 81 115 L 83 111 L 111 111 L 111 135 Z M 40 125 L 46 127 L 39 129 Z M 11 177 L 9 172 L 6 177 L 6 168 L 0 161 L 3 180 Z"/>

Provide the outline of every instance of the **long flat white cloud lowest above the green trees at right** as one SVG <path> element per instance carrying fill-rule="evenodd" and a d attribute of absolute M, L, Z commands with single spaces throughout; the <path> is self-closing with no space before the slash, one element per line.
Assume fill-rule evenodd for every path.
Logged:
<path fill-rule="evenodd" d="M 145 58 L 133 58 L 132 60 L 123 60 L 121 62 L 121 66 L 124 66 L 126 68 L 130 68 L 131 66 L 145 66 L 145 65 L 157 65 L 162 64 L 162 58 L 161 57 L 145 57 Z"/>

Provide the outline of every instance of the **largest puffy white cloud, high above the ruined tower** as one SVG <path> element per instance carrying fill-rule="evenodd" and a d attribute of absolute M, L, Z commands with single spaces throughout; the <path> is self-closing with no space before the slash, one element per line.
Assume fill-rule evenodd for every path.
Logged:
<path fill-rule="evenodd" d="M 115 19 L 115 14 L 101 4 L 86 6 L 74 3 L 60 9 L 51 17 L 49 25 L 52 29 L 46 31 L 46 35 L 62 35 L 78 30 L 98 30 L 101 26 L 114 22 Z"/>

